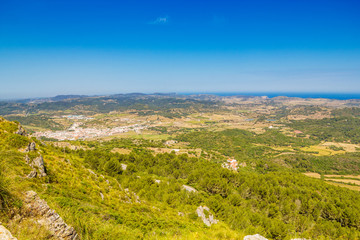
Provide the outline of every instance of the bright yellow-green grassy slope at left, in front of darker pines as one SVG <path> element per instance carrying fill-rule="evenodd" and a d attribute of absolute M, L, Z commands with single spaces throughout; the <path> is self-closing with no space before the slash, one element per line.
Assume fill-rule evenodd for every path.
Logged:
<path fill-rule="evenodd" d="M 1 200 L 4 205 L 3 224 L 18 239 L 48 239 L 51 234 L 38 235 L 38 226 L 22 216 L 24 194 L 34 190 L 49 206 L 73 226 L 81 239 L 179 239 L 239 237 L 225 224 L 208 228 L 194 218 L 196 206 L 179 214 L 179 209 L 138 198 L 112 176 L 95 173 L 84 166 L 84 158 L 75 153 L 43 144 L 36 139 L 14 134 L 18 125 L 1 119 Z M 34 141 L 36 150 L 24 152 Z M 32 168 L 26 156 L 34 159 L 41 154 L 46 177 L 27 178 Z M 131 176 L 135 177 L 135 176 Z M 7 184 L 4 184 L 6 182 Z M 187 194 L 182 191 L 182 194 Z M 191 216 L 189 216 L 189 214 Z M 42 231 L 46 232 L 46 231 Z"/>

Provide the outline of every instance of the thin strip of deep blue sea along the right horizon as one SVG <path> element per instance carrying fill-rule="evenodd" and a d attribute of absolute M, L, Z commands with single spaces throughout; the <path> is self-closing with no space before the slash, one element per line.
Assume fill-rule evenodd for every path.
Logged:
<path fill-rule="evenodd" d="M 218 93 L 183 93 L 184 95 L 191 94 L 212 94 L 217 96 L 268 96 L 269 98 L 286 96 L 286 97 L 299 97 L 299 98 L 328 98 L 328 99 L 338 99 L 338 100 L 347 100 L 347 99 L 360 99 L 360 93 L 275 93 L 275 92 L 254 92 L 254 93 L 241 93 L 241 92 L 218 92 Z"/>

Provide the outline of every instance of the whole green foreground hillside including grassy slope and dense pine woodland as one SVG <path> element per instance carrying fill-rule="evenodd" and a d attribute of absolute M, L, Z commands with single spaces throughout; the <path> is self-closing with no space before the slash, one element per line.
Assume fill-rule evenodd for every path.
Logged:
<path fill-rule="evenodd" d="M 4 119 L 0 159 L 0 220 L 18 239 L 56 239 L 26 214 L 30 190 L 80 239 L 360 237 L 357 192 L 290 170 L 235 173 L 202 158 L 154 155 L 141 147 L 126 155 L 96 146 L 58 148 Z M 199 206 L 219 223 L 205 225 Z"/>

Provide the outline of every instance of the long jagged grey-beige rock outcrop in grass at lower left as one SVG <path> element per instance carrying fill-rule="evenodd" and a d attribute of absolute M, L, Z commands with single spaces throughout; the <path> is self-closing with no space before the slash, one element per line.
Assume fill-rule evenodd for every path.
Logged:
<path fill-rule="evenodd" d="M 51 209 L 46 201 L 42 200 L 36 192 L 26 192 L 25 204 L 28 215 L 36 217 L 38 219 L 37 223 L 46 227 L 58 239 L 80 239 L 74 228 L 68 226 L 59 214 Z"/>

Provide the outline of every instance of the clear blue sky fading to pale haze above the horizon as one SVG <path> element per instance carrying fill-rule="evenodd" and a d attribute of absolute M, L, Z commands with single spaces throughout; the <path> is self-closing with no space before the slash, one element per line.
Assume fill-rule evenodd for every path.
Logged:
<path fill-rule="evenodd" d="M 360 92 L 360 1 L 0 0 L 0 99 Z"/>

